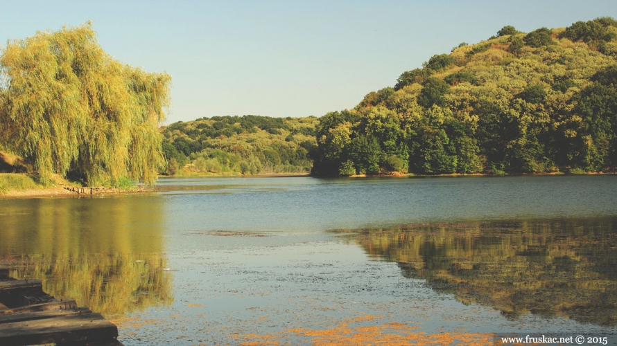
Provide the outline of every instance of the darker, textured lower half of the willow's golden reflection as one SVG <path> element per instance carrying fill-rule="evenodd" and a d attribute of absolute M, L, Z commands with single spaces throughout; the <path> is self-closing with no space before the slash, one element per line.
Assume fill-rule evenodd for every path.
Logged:
<path fill-rule="evenodd" d="M 105 254 L 82 257 L 25 256 L 11 275 L 42 280 L 46 293 L 73 298 L 105 317 L 173 302 L 171 273 L 159 254 Z"/>

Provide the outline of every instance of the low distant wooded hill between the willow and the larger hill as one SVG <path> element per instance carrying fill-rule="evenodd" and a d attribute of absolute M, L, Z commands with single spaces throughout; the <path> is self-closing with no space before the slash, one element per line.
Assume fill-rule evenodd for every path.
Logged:
<path fill-rule="evenodd" d="M 167 174 L 195 172 L 308 173 L 315 125 L 307 118 L 215 116 L 175 122 L 160 130 Z"/>

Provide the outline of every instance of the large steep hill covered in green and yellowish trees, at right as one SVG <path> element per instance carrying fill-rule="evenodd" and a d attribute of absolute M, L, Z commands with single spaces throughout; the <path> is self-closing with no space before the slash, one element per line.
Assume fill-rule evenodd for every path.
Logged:
<path fill-rule="evenodd" d="M 505 26 L 320 118 L 313 174 L 614 171 L 616 58 L 608 17 Z"/>

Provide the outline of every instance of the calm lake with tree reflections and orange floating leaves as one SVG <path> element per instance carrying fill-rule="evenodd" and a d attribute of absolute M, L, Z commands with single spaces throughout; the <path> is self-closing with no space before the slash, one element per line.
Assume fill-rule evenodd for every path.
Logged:
<path fill-rule="evenodd" d="M 0 267 L 103 313 L 125 345 L 617 343 L 617 176 L 164 178 L 0 199 Z"/>

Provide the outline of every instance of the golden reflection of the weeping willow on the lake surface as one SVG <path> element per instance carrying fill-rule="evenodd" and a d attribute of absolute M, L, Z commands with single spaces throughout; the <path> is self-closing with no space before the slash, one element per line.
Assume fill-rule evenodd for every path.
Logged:
<path fill-rule="evenodd" d="M 0 267 L 110 317 L 173 301 L 156 198 L 2 201 Z"/>

